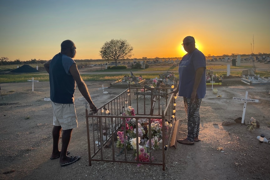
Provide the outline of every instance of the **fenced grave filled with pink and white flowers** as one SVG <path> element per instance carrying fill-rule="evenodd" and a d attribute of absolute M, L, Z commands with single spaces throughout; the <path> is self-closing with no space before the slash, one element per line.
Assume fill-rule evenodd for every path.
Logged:
<path fill-rule="evenodd" d="M 176 148 L 179 128 L 176 98 L 168 94 L 170 90 L 129 87 L 99 107 L 96 114 L 88 113 L 86 102 L 89 166 L 92 161 L 105 161 L 162 165 L 165 170 L 167 150 Z M 141 95 L 149 95 L 150 100 L 138 99 L 138 92 L 147 92 Z M 142 148 L 147 161 L 141 161 Z"/>

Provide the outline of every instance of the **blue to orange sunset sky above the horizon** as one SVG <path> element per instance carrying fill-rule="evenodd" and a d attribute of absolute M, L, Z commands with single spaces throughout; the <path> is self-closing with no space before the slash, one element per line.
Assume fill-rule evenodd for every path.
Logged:
<path fill-rule="evenodd" d="M 65 3 L 64 3 L 65 2 Z M 75 59 L 101 59 L 101 46 L 126 39 L 132 58 L 182 57 L 185 36 L 205 56 L 270 53 L 269 0 L 3 0 L 0 57 L 49 60 L 72 40 Z"/>

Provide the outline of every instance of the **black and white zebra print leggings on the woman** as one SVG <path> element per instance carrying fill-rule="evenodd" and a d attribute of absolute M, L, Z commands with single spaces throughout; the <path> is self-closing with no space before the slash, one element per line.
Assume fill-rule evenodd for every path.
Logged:
<path fill-rule="evenodd" d="M 194 141 L 195 137 L 199 137 L 200 132 L 200 104 L 202 99 L 195 99 L 192 103 L 190 98 L 183 97 L 186 115 L 188 117 L 188 135 L 189 141 Z"/>

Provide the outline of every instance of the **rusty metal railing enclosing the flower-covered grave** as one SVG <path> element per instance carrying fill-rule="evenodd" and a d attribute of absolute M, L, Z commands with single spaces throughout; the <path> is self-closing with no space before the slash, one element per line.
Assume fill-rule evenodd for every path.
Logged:
<path fill-rule="evenodd" d="M 176 120 L 175 99 L 173 94 L 168 95 L 170 90 L 171 88 L 130 87 L 102 105 L 94 115 L 88 114 L 86 104 L 89 166 L 91 166 L 91 161 L 124 162 L 162 165 L 163 170 L 165 170 L 167 150 Z M 155 100 L 156 106 L 154 106 L 153 100 Z M 122 116 L 128 106 L 134 108 L 135 116 Z M 137 125 L 134 126 L 136 129 L 136 151 L 128 151 L 126 142 L 123 148 L 116 147 L 119 130 L 123 131 L 124 139 L 128 137 L 128 132 L 124 128 L 127 118 L 134 118 L 135 120 L 132 121 Z M 149 143 L 149 162 L 139 161 L 138 122 L 141 122 L 142 119 L 146 122 L 143 127 L 144 130 L 151 130 L 153 119 L 162 120 L 162 143 L 159 144 L 160 149 L 153 149 L 152 143 Z M 147 132 L 147 137 L 149 141 L 152 141 L 151 131 Z"/>

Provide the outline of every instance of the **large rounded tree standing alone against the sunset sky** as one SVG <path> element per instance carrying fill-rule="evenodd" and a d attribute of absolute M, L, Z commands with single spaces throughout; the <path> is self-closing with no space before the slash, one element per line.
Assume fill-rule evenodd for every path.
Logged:
<path fill-rule="evenodd" d="M 112 39 L 101 47 L 100 56 L 102 59 L 114 59 L 117 66 L 118 59 L 130 58 L 133 47 L 125 39 Z"/>

